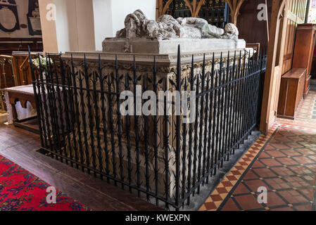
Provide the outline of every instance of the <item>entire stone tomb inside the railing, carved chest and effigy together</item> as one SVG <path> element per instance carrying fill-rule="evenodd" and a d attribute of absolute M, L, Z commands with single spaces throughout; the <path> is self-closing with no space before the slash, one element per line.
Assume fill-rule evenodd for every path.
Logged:
<path fill-rule="evenodd" d="M 100 79 L 96 78 L 96 82 L 93 82 L 93 79 L 95 79 L 94 77 L 98 77 L 99 75 L 99 56 L 103 66 L 103 75 L 114 75 L 114 79 L 116 79 L 115 57 L 117 57 L 118 74 L 119 77 L 122 78 L 116 81 L 118 82 L 117 85 L 115 81 L 111 81 L 111 76 L 108 76 L 107 81 L 110 85 L 106 84 L 106 82 L 103 83 L 105 91 L 113 93 L 122 92 L 126 89 L 129 91 L 134 90 L 132 80 L 128 79 L 128 77 L 132 79 L 134 77 L 134 59 L 136 61 L 137 84 L 143 85 L 145 82 L 148 86 L 147 90 L 153 90 L 153 84 L 150 84 L 149 81 L 153 81 L 154 58 L 156 58 L 156 78 L 157 81 L 160 81 L 157 86 L 158 91 L 175 91 L 174 84 L 177 83 L 175 72 L 177 71 L 178 46 L 180 46 L 181 49 L 181 79 L 187 79 L 187 82 L 189 81 L 192 56 L 194 56 L 194 75 L 201 75 L 204 54 L 206 56 L 206 73 L 212 71 L 213 63 L 215 65 L 214 77 L 211 78 L 211 76 L 208 76 L 207 79 L 215 79 L 216 77 L 218 79 L 221 54 L 223 69 L 227 68 L 228 64 L 234 63 L 235 51 L 236 65 L 239 64 L 239 58 L 241 58 L 242 63 L 246 62 L 248 57 L 244 57 L 245 53 L 246 56 L 253 54 L 253 49 L 246 49 L 246 42 L 243 39 L 238 39 L 238 34 L 238 29 L 233 24 L 227 24 L 225 29 L 221 29 L 209 25 L 206 20 L 201 18 L 177 18 L 176 20 L 170 15 L 163 15 L 158 18 L 157 21 L 148 20 L 144 13 L 137 10 L 134 13 L 127 15 L 125 19 L 125 28 L 120 30 L 115 38 L 108 38 L 103 41 L 103 52 L 65 53 L 63 59 L 68 65 L 70 65 L 71 56 L 73 57 L 75 72 L 78 72 L 75 79 L 76 85 L 80 86 L 80 84 L 82 84 L 84 88 L 89 87 L 89 89 L 95 89 L 96 91 L 94 92 L 97 92 L 96 96 L 94 96 L 93 93 L 87 93 L 88 91 L 77 91 L 77 96 L 82 96 L 82 98 L 78 98 L 79 100 L 76 105 L 79 105 L 80 107 L 78 107 L 78 112 L 76 111 L 75 114 L 80 115 L 81 125 L 80 127 L 75 127 L 75 131 L 72 132 L 70 138 L 71 140 L 65 140 L 65 155 L 68 155 L 68 157 L 70 156 L 70 153 L 74 155 L 74 152 L 72 151 L 75 149 L 75 146 L 79 146 L 79 144 L 82 143 L 82 148 L 88 153 L 80 153 L 82 155 L 79 155 L 79 157 L 82 156 L 82 158 L 84 158 L 85 165 L 89 167 L 95 166 L 96 168 L 103 167 L 103 172 L 108 172 L 110 176 L 115 177 L 116 179 L 130 182 L 134 187 L 137 187 L 137 181 L 139 181 L 139 186 L 144 190 L 146 190 L 147 181 L 150 186 L 149 191 L 152 193 L 157 191 L 161 198 L 174 201 L 176 184 L 176 117 L 174 115 L 169 116 L 168 120 L 170 123 L 165 126 L 163 116 L 158 116 L 158 126 L 156 127 L 158 130 L 157 135 L 155 135 L 153 116 L 131 116 L 129 117 L 130 126 L 127 126 L 127 123 L 125 123 L 127 117 L 123 117 L 118 112 L 119 110 L 116 104 L 118 96 L 115 94 L 104 94 L 101 96 Z M 230 53 L 229 58 L 228 52 Z M 213 53 L 215 62 L 213 62 Z M 86 83 L 85 79 L 80 79 L 84 75 L 84 58 L 87 60 L 89 84 Z M 144 81 L 145 77 L 146 80 Z M 204 84 L 205 86 L 203 89 L 208 89 L 208 87 L 206 87 L 207 81 L 204 82 Z M 201 90 L 201 88 L 202 86 L 200 82 L 199 89 Z M 183 89 L 184 85 L 182 85 L 182 90 Z M 188 85 L 187 89 L 189 90 L 191 87 Z M 94 98 L 92 96 L 94 96 Z M 222 97 L 225 98 L 226 96 Z M 89 105 L 89 102 L 92 103 L 92 106 L 94 105 L 95 98 L 96 105 L 99 106 L 98 110 Z M 102 100 L 104 100 L 106 105 L 105 112 L 101 108 Z M 173 100 L 172 96 L 168 96 L 168 101 Z M 215 102 L 217 99 L 213 98 L 209 101 Z M 109 110 L 110 108 L 113 110 Z M 196 110 L 199 110 L 200 108 L 201 105 L 199 105 Z M 82 113 L 82 109 L 85 110 L 85 113 Z M 214 108 L 211 108 L 210 111 L 213 117 Z M 106 115 L 106 123 L 101 119 L 102 113 L 105 113 Z M 94 117 L 95 115 L 99 115 L 100 117 L 99 124 L 96 124 L 95 120 L 91 120 L 91 117 Z M 199 118 L 196 120 L 199 124 L 198 126 L 201 124 L 199 120 Z M 145 127 L 146 122 L 147 126 Z M 212 121 L 203 121 L 202 134 L 206 129 L 205 126 L 208 127 L 210 122 Z M 82 126 L 82 124 L 84 123 L 88 126 L 86 132 L 83 131 L 84 126 Z M 103 129 L 105 126 L 106 129 Z M 139 131 L 138 147 L 135 127 L 138 127 Z M 181 129 L 183 129 L 183 127 L 181 127 Z M 105 130 L 105 132 L 103 132 L 103 130 Z M 92 135 L 90 131 L 93 132 Z M 100 133 L 100 139 L 96 139 L 96 133 L 98 132 Z M 120 136 L 118 134 L 122 135 Z M 165 146 L 164 141 L 166 134 L 169 136 L 168 146 Z M 82 139 L 79 140 L 78 136 L 81 136 Z M 93 138 L 91 138 L 91 136 L 93 136 Z M 204 136 L 200 139 L 199 132 L 196 135 L 193 134 L 193 136 L 197 141 L 197 146 L 200 144 L 198 141 L 202 141 L 201 145 L 203 148 Z M 87 140 L 84 140 L 85 138 L 87 138 Z M 65 137 L 65 139 L 68 139 L 68 137 Z M 180 137 L 180 190 L 183 185 L 181 181 L 182 172 L 186 174 L 186 177 L 188 174 L 191 174 L 191 176 L 194 174 L 192 171 L 193 169 L 189 171 L 187 163 L 184 165 L 182 164 L 184 153 L 186 155 L 185 160 L 188 162 L 189 151 L 192 150 L 188 147 L 189 132 L 187 132 L 186 140 L 186 148 L 184 149 L 183 137 Z M 71 146 L 69 146 L 69 142 L 71 143 Z M 157 143 L 156 146 L 155 142 Z M 101 146 L 101 152 L 98 150 L 99 146 Z M 128 146 L 130 148 L 128 148 Z M 137 148 L 139 148 L 139 154 L 137 153 Z M 108 156 L 106 154 L 107 151 Z M 158 152 L 157 160 L 155 158 L 156 151 Z M 168 159 L 165 159 L 166 151 L 168 152 Z M 91 158 L 93 158 L 94 155 L 95 162 L 91 162 Z M 128 158 L 128 155 L 130 155 L 130 158 Z M 197 158 L 206 158 L 206 156 L 202 153 L 202 155 L 197 155 Z M 146 161 L 148 162 L 148 172 L 146 172 Z M 113 162 L 115 162 L 115 166 L 113 166 Z M 120 162 L 122 162 L 123 167 L 120 167 Z M 166 162 L 169 162 L 169 173 L 165 172 L 167 166 Z M 194 167 L 194 164 L 197 165 L 197 163 L 198 162 L 192 162 L 192 168 Z M 139 177 L 137 177 L 137 164 L 139 165 Z M 129 165 L 130 167 L 128 167 Z M 156 171 L 158 170 L 158 174 L 155 174 L 155 167 Z M 129 175 L 131 175 L 130 181 L 128 179 Z M 155 175 L 158 176 L 159 180 L 158 190 L 156 190 Z M 167 191 L 165 190 L 166 184 L 168 184 Z M 188 185 L 187 181 L 184 182 L 184 185 Z"/>

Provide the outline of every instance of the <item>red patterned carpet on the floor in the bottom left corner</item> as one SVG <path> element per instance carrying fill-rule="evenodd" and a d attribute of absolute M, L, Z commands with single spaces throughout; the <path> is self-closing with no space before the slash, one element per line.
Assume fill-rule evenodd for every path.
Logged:
<path fill-rule="evenodd" d="M 46 203 L 49 184 L 0 155 L 0 211 L 87 211 L 56 191 L 56 204 Z"/>

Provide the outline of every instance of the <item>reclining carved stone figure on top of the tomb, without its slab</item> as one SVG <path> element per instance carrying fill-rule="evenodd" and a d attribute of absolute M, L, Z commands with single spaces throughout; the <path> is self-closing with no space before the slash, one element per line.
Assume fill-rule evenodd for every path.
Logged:
<path fill-rule="evenodd" d="M 118 31 L 117 38 L 193 38 L 193 39 L 238 39 L 237 27 L 228 23 L 225 29 L 208 24 L 202 18 L 173 18 L 162 15 L 155 20 L 148 20 L 141 10 L 127 15 L 125 28 Z"/>

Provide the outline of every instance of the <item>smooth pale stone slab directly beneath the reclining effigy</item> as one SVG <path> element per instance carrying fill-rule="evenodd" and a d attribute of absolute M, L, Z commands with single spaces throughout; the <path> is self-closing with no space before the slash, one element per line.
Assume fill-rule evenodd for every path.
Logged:
<path fill-rule="evenodd" d="M 182 53 L 201 53 L 244 49 L 246 41 L 244 39 L 107 38 L 103 41 L 103 52 L 174 54 L 177 53 L 178 45 L 181 46 Z"/>

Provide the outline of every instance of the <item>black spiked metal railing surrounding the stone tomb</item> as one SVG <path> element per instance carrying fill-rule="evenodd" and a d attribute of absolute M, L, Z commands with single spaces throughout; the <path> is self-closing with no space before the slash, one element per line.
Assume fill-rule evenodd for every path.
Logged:
<path fill-rule="evenodd" d="M 168 75 L 161 75 L 156 57 L 146 72 L 139 70 L 135 56 L 127 72 L 117 57 L 113 65 L 101 56 L 93 65 L 85 57 L 80 62 L 61 58 L 48 61 L 47 70 L 30 63 L 42 150 L 151 203 L 179 210 L 255 129 L 266 57 L 246 51 L 204 54 L 202 62 L 192 56 L 182 67 L 179 51 Z M 188 91 L 188 102 L 195 91 L 196 102 L 189 105 L 196 109 L 194 122 L 175 115 L 177 103 L 168 95 L 163 115 L 122 115 L 126 98 L 120 94 L 129 91 L 136 103 L 138 85 L 156 96 Z"/>

